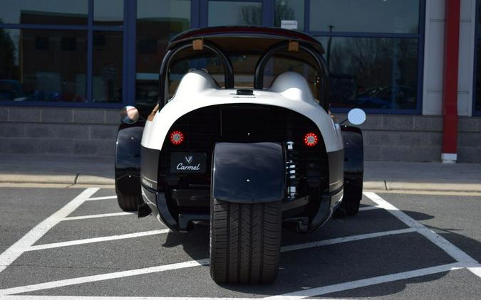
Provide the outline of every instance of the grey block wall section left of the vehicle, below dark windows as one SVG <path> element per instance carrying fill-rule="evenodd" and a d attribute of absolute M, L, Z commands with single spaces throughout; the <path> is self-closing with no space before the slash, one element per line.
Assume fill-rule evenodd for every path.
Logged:
<path fill-rule="evenodd" d="M 0 153 L 113 155 L 119 112 L 0 107 Z"/>

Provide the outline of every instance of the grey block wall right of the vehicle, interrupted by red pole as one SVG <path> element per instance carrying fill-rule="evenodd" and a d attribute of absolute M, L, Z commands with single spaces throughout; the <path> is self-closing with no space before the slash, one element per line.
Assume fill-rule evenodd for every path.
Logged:
<path fill-rule="evenodd" d="M 440 161 L 443 117 L 371 114 L 361 125 L 369 161 Z M 481 117 L 460 117 L 457 161 L 481 162 Z"/>

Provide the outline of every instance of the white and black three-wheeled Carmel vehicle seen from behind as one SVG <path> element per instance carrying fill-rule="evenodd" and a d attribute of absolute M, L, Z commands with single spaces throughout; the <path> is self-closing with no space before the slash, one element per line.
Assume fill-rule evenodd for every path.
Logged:
<path fill-rule="evenodd" d="M 282 227 L 311 232 L 335 211 L 356 215 L 361 200 L 361 130 L 329 112 L 323 53 L 315 38 L 280 28 L 172 38 L 150 114 L 121 113 L 120 208 L 175 232 L 210 225 L 217 283 L 272 282 Z M 348 114 L 351 124 L 365 118 Z"/>

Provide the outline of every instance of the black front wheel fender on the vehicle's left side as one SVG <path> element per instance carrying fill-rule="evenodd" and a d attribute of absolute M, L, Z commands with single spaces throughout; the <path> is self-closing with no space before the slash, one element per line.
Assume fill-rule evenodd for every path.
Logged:
<path fill-rule="evenodd" d="M 115 143 L 115 190 L 123 195 L 141 195 L 140 141 L 144 122 L 120 124 Z"/>

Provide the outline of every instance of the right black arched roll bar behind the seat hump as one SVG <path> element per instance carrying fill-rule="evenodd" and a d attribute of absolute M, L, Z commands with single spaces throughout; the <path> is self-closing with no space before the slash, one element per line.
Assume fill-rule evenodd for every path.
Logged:
<path fill-rule="evenodd" d="M 279 53 L 282 50 L 291 50 L 291 45 L 289 45 L 291 41 L 281 41 L 272 45 L 269 49 L 264 52 L 257 60 L 256 69 L 254 73 L 254 89 L 262 90 L 264 88 L 264 70 L 266 68 L 267 62 L 270 58 L 272 58 L 276 53 Z M 296 45 L 294 52 L 299 50 L 304 51 L 305 53 L 309 54 L 314 61 L 316 62 L 316 73 L 317 73 L 317 80 L 319 80 L 319 89 L 318 89 L 318 99 L 319 105 L 324 107 L 324 109 L 329 111 L 329 84 L 328 78 L 329 73 L 327 71 L 326 63 L 324 62 L 324 58 L 319 55 L 319 53 L 309 44 L 298 43 Z M 293 51 L 293 50 L 291 50 Z"/>

